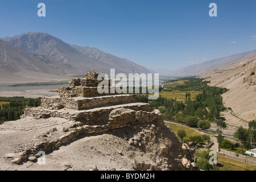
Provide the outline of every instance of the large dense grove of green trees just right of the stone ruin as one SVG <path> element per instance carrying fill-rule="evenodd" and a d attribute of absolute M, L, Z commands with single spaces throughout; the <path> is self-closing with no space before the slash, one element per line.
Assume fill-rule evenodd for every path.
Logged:
<path fill-rule="evenodd" d="M 197 79 L 203 82 L 201 78 Z M 217 121 L 221 111 L 226 109 L 221 97 L 221 94 L 226 91 L 226 88 L 207 86 L 207 90 L 204 89 L 201 94 L 198 94 L 194 101 L 189 99 L 190 93 L 186 94 L 185 102 L 169 100 L 161 96 L 150 102 L 147 96 L 141 96 L 139 100 L 149 102 L 154 109 L 159 109 L 164 119 L 182 122 L 191 127 L 209 129 L 210 121 Z"/>

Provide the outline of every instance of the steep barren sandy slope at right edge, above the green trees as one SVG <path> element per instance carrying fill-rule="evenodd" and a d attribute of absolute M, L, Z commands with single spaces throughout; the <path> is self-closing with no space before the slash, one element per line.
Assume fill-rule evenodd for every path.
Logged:
<path fill-rule="evenodd" d="M 205 73 L 200 77 L 210 80 L 211 86 L 219 86 L 230 89 L 222 94 L 223 103 L 226 107 L 231 107 L 233 114 L 246 121 L 256 119 L 256 53 L 244 57 L 225 67 L 215 71 Z M 237 122 L 247 127 L 247 123 L 241 119 L 230 117 L 230 122 Z M 233 123 L 234 125 L 234 123 Z"/>

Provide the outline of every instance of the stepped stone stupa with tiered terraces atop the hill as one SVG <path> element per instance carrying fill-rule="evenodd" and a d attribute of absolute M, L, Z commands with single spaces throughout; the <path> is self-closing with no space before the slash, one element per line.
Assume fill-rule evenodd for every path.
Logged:
<path fill-rule="evenodd" d="M 69 86 L 58 88 L 59 96 L 42 98 L 40 107 L 25 109 L 22 117 L 65 118 L 88 125 L 93 128 L 90 133 L 161 118 L 149 104 L 138 102 L 137 94 L 98 93 L 97 86 L 102 81 L 97 80 L 98 75 L 91 70 L 85 78 L 70 78 Z"/>

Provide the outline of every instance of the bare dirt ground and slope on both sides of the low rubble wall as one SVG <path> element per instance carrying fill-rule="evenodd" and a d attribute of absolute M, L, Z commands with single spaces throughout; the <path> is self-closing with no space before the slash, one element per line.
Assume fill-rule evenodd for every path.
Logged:
<path fill-rule="evenodd" d="M 21 151 L 26 151 L 27 147 L 33 148 L 42 139 L 38 136 L 49 131 L 44 141 L 51 142 L 65 135 L 63 128 L 70 128 L 72 124 L 73 121 L 64 118 L 33 117 L 3 123 L 0 125 L 0 171 L 165 170 L 177 169 L 181 159 L 190 156 L 190 153 L 181 149 L 182 144 L 177 136 L 162 122 L 150 123 L 146 127 L 136 124 L 95 135 L 82 135 L 56 150 L 46 152 L 43 157 L 30 155 L 37 156 L 33 162 L 25 160 L 18 164 L 12 163 Z M 52 133 L 54 128 L 55 132 Z M 139 141 L 146 143 L 145 147 L 140 146 Z M 162 151 L 161 146 L 164 146 Z"/>

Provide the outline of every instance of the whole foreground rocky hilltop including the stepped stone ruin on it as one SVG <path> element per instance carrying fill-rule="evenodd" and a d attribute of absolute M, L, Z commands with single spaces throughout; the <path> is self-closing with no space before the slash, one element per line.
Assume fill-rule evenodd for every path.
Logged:
<path fill-rule="evenodd" d="M 59 96 L 0 125 L 0 170 L 197 169 L 194 148 L 181 143 L 158 110 L 138 95 L 99 94 L 98 74 L 71 78 Z"/>

